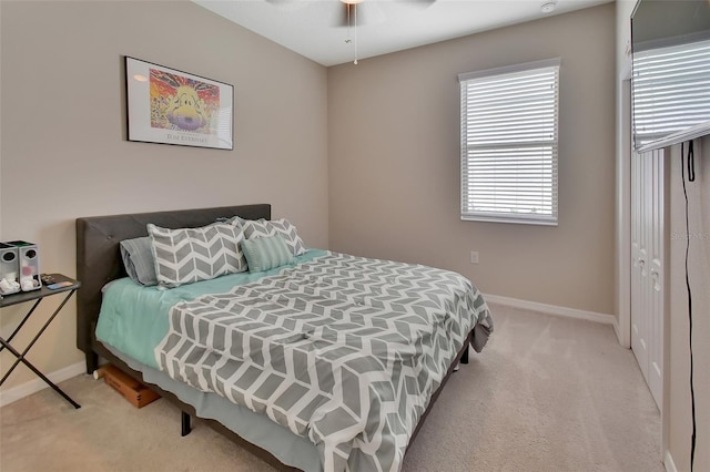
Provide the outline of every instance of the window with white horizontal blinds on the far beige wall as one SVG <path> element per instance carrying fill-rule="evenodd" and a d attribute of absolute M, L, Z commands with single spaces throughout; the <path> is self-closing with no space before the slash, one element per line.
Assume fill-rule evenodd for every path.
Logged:
<path fill-rule="evenodd" d="M 458 76 L 462 219 L 557 225 L 559 65 Z"/>

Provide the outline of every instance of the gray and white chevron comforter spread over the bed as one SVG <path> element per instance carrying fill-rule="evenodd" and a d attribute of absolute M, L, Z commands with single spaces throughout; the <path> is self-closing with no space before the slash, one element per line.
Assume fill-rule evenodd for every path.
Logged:
<path fill-rule="evenodd" d="M 327 253 L 175 305 L 155 357 L 308 438 L 326 471 L 397 471 L 476 326 L 490 332 L 490 312 L 458 274 Z"/>

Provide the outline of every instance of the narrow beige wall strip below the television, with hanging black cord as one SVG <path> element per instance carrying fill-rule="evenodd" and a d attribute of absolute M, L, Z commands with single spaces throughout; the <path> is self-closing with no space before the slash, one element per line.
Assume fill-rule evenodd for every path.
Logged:
<path fill-rule="evenodd" d="M 688 222 L 682 188 L 680 146 L 670 154 L 670 312 L 666 326 L 670 350 L 669 411 L 663 428 L 668 431 L 668 451 L 678 471 L 690 470 L 690 322 L 686 288 L 686 245 L 690 238 L 688 274 L 692 294 L 692 350 L 696 392 L 697 450 L 693 471 L 710 470 L 710 136 L 697 140 L 696 182 L 687 182 Z M 687 152 L 686 146 L 686 152 Z M 687 161 L 686 161 L 687 162 Z M 686 173 L 688 178 L 688 173 Z"/>

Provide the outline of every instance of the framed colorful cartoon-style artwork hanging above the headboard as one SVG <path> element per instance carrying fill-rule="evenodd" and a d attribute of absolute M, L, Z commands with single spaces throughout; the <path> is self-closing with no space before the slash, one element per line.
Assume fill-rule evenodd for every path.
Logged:
<path fill-rule="evenodd" d="M 125 58 L 129 141 L 233 150 L 234 88 Z"/>

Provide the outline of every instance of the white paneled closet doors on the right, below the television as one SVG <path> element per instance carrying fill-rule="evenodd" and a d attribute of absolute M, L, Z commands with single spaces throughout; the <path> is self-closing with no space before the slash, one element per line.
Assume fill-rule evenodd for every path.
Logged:
<path fill-rule="evenodd" d="M 656 403 L 662 402 L 665 307 L 663 151 L 631 161 L 631 349 Z"/>

